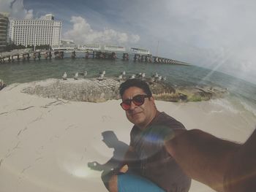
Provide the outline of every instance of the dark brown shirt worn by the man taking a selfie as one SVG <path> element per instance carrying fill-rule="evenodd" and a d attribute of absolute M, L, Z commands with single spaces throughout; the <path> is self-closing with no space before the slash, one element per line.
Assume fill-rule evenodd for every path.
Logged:
<path fill-rule="evenodd" d="M 130 145 L 139 160 L 136 172 L 168 192 L 189 191 L 191 179 L 165 150 L 163 138 L 175 129 L 185 129 L 182 123 L 160 112 L 143 130 L 133 126 Z"/>

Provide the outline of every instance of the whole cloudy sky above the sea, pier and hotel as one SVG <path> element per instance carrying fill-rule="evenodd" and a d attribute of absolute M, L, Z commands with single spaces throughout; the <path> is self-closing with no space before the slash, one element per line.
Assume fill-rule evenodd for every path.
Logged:
<path fill-rule="evenodd" d="M 256 84 L 255 0 L 0 0 L 12 18 L 52 13 L 61 39 L 140 47 Z"/>

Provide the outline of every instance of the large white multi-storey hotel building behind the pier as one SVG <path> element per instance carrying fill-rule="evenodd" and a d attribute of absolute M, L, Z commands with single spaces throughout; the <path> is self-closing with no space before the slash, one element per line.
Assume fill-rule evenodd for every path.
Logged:
<path fill-rule="evenodd" d="M 15 45 L 59 45 L 61 42 L 61 21 L 55 21 L 52 14 L 42 19 L 10 20 L 10 40 Z"/>

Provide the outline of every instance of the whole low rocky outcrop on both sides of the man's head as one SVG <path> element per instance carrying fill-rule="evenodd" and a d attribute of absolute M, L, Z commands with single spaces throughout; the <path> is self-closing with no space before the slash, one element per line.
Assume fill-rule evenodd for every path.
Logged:
<path fill-rule="evenodd" d="M 102 102 L 120 99 L 118 88 L 121 82 L 114 78 L 48 80 L 29 83 L 22 92 L 69 101 Z M 204 101 L 225 96 L 227 93 L 227 90 L 219 87 L 173 88 L 167 82 L 148 84 L 155 99 L 162 101 Z"/>

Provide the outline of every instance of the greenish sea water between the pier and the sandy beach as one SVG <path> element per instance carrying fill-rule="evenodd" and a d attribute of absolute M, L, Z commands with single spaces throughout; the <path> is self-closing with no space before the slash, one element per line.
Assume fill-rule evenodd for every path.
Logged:
<path fill-rule="evenodd" d="M 145 72 L 146 77 L 157 72 L 162 77 L 167 77 L 167 82 L 174 86 L 217 85 L 227 88 L 230 92 L 229 96 L 213 102 L 233 112 L 240 112 L 246 117 L 250 116 L 256 124 L 256 85 L 251 82 L 199 66 L 135 63 L 132 57 L 129 61 L 122 61 L 121 55 L 118 55 L 116 61 L 85 59 L 79 53 L 77 58 L 72 59 L 69 54 L 65 53 L 64 59 L 53 57 L 51 60 L 45 60 L 42 57 L 40 61 L 31 59 L 0 64 L 0 79 L 10 85 L 15 82 L 31 82 L 48 78 L 60 79 L 64 72 L 67 72 L 69 78 L 73 77 L 75 72 L 84 71 L 88 72 L 88 78 L 97 77 L 103 70 L 106 72 L 106 77 L 118 77 L 123 71 L 126 71 L 128 76 Z"/>

